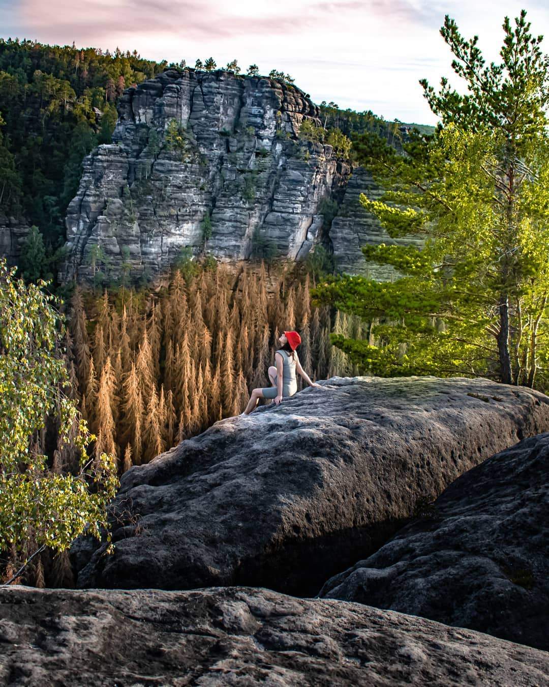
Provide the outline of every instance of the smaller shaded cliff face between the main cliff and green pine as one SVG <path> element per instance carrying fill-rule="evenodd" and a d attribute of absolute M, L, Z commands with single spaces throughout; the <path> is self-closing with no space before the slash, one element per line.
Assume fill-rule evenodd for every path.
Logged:
<path fill-rule="evenodd" d="M 361 193 L 371 200 L 379 200 L 384 191 L 375 184 L 369 172 L 358 167 L 347 180 L 342 203 L 329 230 L 337 268 L 347 274 L 361 274 L 379 281 L 395 279 L 398 273 L 393 267 L 367 262 L 360 247 L 385 243 L 422 248 L 423 242 L 417 236 L 391 238 L 377 217 L 364 210 L 359 201 Z"/>

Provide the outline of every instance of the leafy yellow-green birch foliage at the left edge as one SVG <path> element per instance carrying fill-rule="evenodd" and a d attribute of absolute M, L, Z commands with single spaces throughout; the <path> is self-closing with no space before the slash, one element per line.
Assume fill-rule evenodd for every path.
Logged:
<path fill-rule="evenodd" d="M 101 537 L 116 465 L 105 453 L 95 464 L 88 459 L 93 437 L 62 392 L 69 385 L 58 350 L 65 324 L 58 302 L 41 290 L 47 282 L 15 280 L 3 260 L 0 282 L 0 550 L 28 555 L 32 540 L 33 556 L 46 547 L 62 552 L 86 528 Z M 56 471 L 40 447 L 48 417 L 59 423 L 59 445 L 78 449 L 75 473 Z"/>

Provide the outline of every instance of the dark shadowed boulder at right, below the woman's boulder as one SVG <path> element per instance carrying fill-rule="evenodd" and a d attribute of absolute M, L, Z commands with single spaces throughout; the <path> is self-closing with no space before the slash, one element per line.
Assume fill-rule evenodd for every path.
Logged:
<path fill-rule="evenodd" d="M 549 434 L 459 477 L 321 596 L 549 649 Z"/>

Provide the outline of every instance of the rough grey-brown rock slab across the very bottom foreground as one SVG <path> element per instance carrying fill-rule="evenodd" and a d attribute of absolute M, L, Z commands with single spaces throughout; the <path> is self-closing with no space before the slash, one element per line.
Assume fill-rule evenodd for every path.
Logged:
<path fill-rule="evenodd" d="M 359 604 L 266 589 L 0 589 L 9 685 L 549 684 L 549 654 Z"/>

